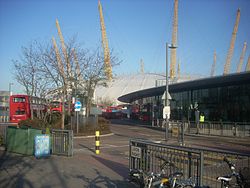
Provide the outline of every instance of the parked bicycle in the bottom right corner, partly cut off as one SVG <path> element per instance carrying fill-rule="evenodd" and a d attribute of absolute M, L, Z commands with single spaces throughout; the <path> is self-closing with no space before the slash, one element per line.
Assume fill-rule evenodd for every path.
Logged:
<path fill-rule="evenodd" d="M 229 166 L 231 173 L 225 176 L 217 177 L 217 181 L 221 182 L 221 188 L 229 188 L 229 187 L 239 187 L 239 188 L 247 188 L 250 185 L 247 183 L 247 180 L 243 177 L 242 172 L 236 172 L 236 166 L 234 163 L 228 160 L 227 157 L 224 157 L 223 161 L 227 163 Z M 249 173 L 249 172 L 248 172 Z M 233 178 L 236 179 L 235 184 L 231 184 Z"/>

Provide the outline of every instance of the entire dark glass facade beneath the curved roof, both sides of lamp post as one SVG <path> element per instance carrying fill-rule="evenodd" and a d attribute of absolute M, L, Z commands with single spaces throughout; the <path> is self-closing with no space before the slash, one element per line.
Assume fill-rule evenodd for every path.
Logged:
<path fill-rule="evenodd" d="M 172 120 L 194 121 L 194 107 L 205 115 L 205 121 L 250 122 L 250 84 L 239 84 L 206 89 L 170 91 Z M 162 119 L 162 96 L 140 99 L 141 114 L 152 119 Z M 142 102 L 141 102 L 142 101 Z M 138 104 L 138 101 L 134 101 Z M 141 103 L 141 104 L 140 104 Z M 145 108 L 145 106 L 147 106 Z"/>

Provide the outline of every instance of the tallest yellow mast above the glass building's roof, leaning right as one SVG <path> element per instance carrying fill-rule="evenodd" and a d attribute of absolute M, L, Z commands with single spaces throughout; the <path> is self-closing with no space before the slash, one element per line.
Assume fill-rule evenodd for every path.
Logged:
<path fill-rule="evenodd" d="M 235 44 L 236 34 L 238 31 L 239 21 L 240 21 L 240 9 L 237 10 L 237 17 L 236 17 L 236 21 L 234 24 L 234 29 L 233 29 L 233 33 L 232 33 L 231 42 L 230 42 L 230 47 L 228 50 L 226 63 L 224 65 L 224 72 L 223 72 L 224 75 L 227 75 L 230 72 L 231 60 L 232 60 L 232 56 L 233 56 L 234 44 Z"/>

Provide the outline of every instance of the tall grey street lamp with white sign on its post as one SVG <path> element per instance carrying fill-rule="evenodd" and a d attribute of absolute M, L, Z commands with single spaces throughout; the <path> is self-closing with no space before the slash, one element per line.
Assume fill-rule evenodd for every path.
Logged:
<path fill-rule="evenodd" d="M 163 118 L 166 119 L 166 131 L 165 131 L 165 140 L 168 139 L 168 127 L 169 127 L 169 116 L 170 116 L 170 105 L 168 103 L 168 48 L 175 49 L 177 48 L 173 44 L 170 46 L 166 43 L 166 91 L 165 91 L 165 105 L 163 109 Z"/>

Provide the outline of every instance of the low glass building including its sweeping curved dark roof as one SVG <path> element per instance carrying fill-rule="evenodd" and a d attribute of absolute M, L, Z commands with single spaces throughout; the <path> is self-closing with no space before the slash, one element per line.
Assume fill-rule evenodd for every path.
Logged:
<path fill-rule="evenodd" d="M 139 104 L 140 113 L 162 119 L 166 87 L 154 87 L 120 96 L 121 102 Z M 169 85 L 172 120 L 195 119 L 195 109 L 205 121 L 250 122 L 250 72 L 197 79 Z"/>

